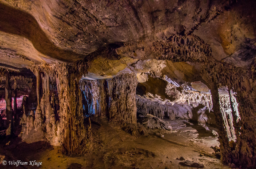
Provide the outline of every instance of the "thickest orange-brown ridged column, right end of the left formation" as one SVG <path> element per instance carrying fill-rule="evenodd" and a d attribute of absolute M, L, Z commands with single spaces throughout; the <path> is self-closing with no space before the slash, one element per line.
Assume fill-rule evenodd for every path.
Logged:
<path fill-rule="evenodd" d="M 60 100 L 59 142 L 65 154 L 81 154 L 91 147 L 89 128 L 84 126 L 79 80 L 76 73 L 71 72 L 61 72 L 56 79 Z"/>

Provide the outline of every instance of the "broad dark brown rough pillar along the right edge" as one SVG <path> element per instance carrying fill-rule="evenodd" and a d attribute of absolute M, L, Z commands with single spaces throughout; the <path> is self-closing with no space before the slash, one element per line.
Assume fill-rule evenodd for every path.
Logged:
<path fill-rule="evenodd" d="M 245 86 L 245 85 L 244 85 Z M 254 87 L 256 88 L 256 87 Z M 233 157 L 235 164 L 256 167 L 256 93 L 255 91 L 237 91 L 238 110 L 241 120 L 238 121 L 238 140 L 236 154 Z M 241 129 L 240 129 L 241 127 Z"/>

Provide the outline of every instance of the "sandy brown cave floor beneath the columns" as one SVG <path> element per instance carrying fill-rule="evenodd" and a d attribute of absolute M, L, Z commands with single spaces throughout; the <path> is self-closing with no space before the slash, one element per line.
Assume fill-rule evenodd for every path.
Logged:
<path fill-rule="evenodd" d="M 123 131 L 117 124 L 98 119 L 92 123 L 93 150 L 85 155 L 62 155 L 60 148 L 44 141 L 1 143 L 0 154 L 5 160 L 42 162 L 41 168 L 189 168 L 179 165 L 184 157 L 204 165 L 204 168 L 228 168 L 214 158 L 210 146 L 218 145 L 217 137 L 203 127 L 186 120 L 168 120 L 172 131 L 149 129 L 148 136 L 138 138 Z M 164 135 L 164 137 L 159 137 Z M 5 142 L 7 142 L 5 140 Z M 3 145 L 4 144 L 4 145 Z M 2 153 L 1 153 L 2 152 Z M 203 155 L 203 156 L 200 156 Z M 8 166 L 0 165 L 0 168 Z M 10 168 L 13 168 L 10 167 Z M 21 168 L 38 168 L 22 166 Z"/>

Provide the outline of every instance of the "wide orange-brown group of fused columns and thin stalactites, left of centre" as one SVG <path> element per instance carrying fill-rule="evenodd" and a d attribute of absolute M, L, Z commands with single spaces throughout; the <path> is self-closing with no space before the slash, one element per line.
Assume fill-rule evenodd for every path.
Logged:
<path fill-rule="evenodd" d="M 89 151 L 87 142 L 90 140 L 86 138 L 90 137 L 90 128 L 84 126 L 80 75 L 67 64 L 38 65 L 34 66 L 34 71 L 41 72 L 41 77 L 37 78 L 42 78 L 38 81 L 42 81 L 39 85 L 43 88 L 40 103 L 38 99 L 40 106 L 36 110 L 37 128 L 42 125 L 44 118 L 46 138 L 53 145 L 62 145 L 67 154 Z M 81 146 L 81 143 L 85 145 Z"/>

